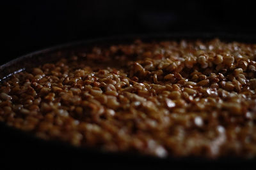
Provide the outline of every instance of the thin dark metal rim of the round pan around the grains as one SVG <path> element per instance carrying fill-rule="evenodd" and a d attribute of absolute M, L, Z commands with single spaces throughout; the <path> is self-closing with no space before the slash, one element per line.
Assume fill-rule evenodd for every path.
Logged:
<path fill-rule="evenodd" d="M 256 37 L 250 36 L 250 35 L 237 35 L 237 34 L 227 34 L 225 32 L 222 33 L 191 33 L 191 32 L 176 32 L 176 33 L 169 33 L 169 34 L 139 34 L 139 35 L 126 35 L 126 36 L 113 36 L 113 37 L 107 37 L 107 38 L 98 38 L 98 39 L 90 39 L 90 40 L 83 40 L 83 41 L 76 41 L 72 43 L 65 43 L 63 45 L 57 45 L 53 47 L 46 48 L 44 50 L 39 50 L 37 52 L 29 53 L 28 55 L 23 55 L 21 57 L 18 57 L 17 59 L 11 60 L 10 62 L 7 62 L 6 64 L 3 64 L 0 66 L 0 81 L 4 80 L 8 76 L 11 76 L 12 74 L 19 73 L 20 71 L 23 71 L 26 69 L 24 66 L 20 66 L 20 62 L 24 62 L 26 60 L 34 59 L 38 57 L 38 55 L 44 54 L 44 53 L 52 53 L 56 52 L 58 50 L 63 50 L 66 48 L 72 48 L 79 45 L 111 45 L 115 43 L 126 43 L 126 42 L 132 42 L 134 39 L 142 39 L 143 41 L 152 41 L 152 40 L 165 40 L 165 39 L 212 39 L 212 38 L 220 38 L 223 41 L 239 41 L 244 43 L 256 43 Z M 7 71 L 6 71 L 7 70 Z M 36 143 L 41 143 L 41 145 L 49 145 L 49 146 L 59 146 L 66 148 L 67 150 L 72 150 L 73 152 L 83 152 L 83 153 L 93 153 L 93 154 L 101 154 L 106 155 L 106 157 L 122 157 L 122 158 L 129 158 L 129 159 L 136 159 L 136 160 L 152 160 L 152 161 L 161 161 L 161 162 L 204 162 L 205 164 L 211 162 L 211 163 L 227 163 L 227 162 L 237 162 L 239 163 L 256 163 L 256 159 L 244 159 L 239 157 L 220 157 L 218 159 L 208 159 L 208 158 L 202 158 L 202 157 L 153 157 L 148 155 L 140 155 L 136 153 L 127 153 L 127 152 L 106 152 L 102 151 L 99 148 L 88 148 L 88 147 L 77 147 L 72 146 L 67 143 L 63 143 L 60 141 L 46 141 L 44 139 L 39 139 L 33 136 L 33 134 L 30 134 L 28 132 L 21 131 L 19 129 L 15 129 L 13 127 L 10 127 L 4 122 L 0 122 L 0 129 L 3 129 L 3 131 L 8 131 L 12 133 L 13 135 L 17 134 L 17 136 L 24 136 L 24 138 L 28 138 L 31 141 L 34 141 Z M 0 134 L 1 135 L 1 134 Z"/>

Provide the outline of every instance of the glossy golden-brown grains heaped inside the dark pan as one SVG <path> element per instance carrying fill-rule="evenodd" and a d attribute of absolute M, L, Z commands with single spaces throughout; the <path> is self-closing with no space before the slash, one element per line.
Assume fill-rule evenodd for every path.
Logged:
<path fill-rule="evenodd" d="M 157 157 L 256 157 L 256 45 L 93 47 L 0 83 L 0 120 L 43 139 Z"/>

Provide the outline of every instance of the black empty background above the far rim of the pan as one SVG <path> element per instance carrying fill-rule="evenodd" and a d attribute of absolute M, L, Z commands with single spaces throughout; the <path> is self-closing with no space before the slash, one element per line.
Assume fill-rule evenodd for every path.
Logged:
<path fill-rule="evenodd" d="M 256 34 L 253 1 L 7 1 L 1 64 L 81 39 L 156 32 Z"/>

